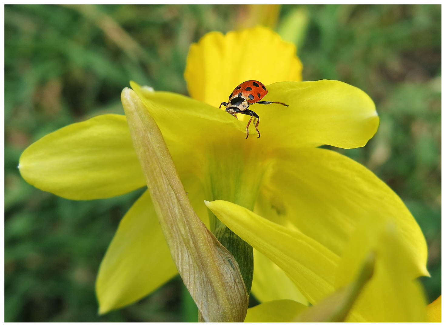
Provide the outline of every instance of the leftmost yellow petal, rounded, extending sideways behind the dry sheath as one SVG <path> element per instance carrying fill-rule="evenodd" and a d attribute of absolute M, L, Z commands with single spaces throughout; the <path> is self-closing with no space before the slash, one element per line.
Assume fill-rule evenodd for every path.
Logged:
<path fill-rule="evenodd" d="M 72 200 L 117 196 L 145 185 L 123 115 L 104 114 L 45 135 L 20 157 L 23 178 Z"/>

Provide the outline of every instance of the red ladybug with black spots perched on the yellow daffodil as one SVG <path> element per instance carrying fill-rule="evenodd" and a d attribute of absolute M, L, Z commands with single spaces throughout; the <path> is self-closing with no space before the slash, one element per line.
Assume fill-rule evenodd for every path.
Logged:
<path fill-rule="evenodd" d="M 252 119 L 254 118 L 254 123 L 256 123 L 256 131 L 259 135 L 257 138 L 260 137 L 260 132 L 257 129 L 257 126 L 259 126 L 259 116 L 252 110 L 249 110 L 248 107 L 254 103 L 260 103 L 260 104 L 271 104 L 271 103 L 279 103 L 284 106 L 288 106 L 285 103 L 282 102 L 272 102 L 272 101 L 260 101 L 266 94 L 268 93 L 268 90 L 266 87 L 260 83 L 259 81 L 246 81 L 241 83 L 239 86 L 237 86 L 229 95 L 229 102 L 222 102 L 219 106 L 226 106 L 226 112 L 233 115 L 235 118 L 237 118 L 237 113 L 240 114 L 247 114 L 251 116 L 251 119 L 249 119 L 248 125 L 246 125 L 246 137 L 245 139 L 248 139 L 249 131 L 248 127 L 251 123 Z"/>

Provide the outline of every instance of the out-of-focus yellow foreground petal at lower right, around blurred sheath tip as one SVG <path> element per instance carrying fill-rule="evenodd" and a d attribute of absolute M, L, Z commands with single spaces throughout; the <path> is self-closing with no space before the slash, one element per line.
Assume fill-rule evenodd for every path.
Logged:
<path fill-rule="evenodd" d="M 361 250 L 375 250 L 372 280 L 360 294 L 347 321 L 425 322 L 425 296 L 419 267 L 406 235 L 394 221 L 364 219 L 353 233 L 336 274 L 339 287 L 358 271 Z"/>

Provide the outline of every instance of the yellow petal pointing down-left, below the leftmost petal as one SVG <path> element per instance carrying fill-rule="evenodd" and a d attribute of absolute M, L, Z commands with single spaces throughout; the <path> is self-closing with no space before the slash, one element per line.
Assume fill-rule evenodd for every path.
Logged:
<path fill-rule="evenodd" d="M 124 307 L 178 274 L 149 192 L 128 210 L 99 267 L 99 313 Z"/>

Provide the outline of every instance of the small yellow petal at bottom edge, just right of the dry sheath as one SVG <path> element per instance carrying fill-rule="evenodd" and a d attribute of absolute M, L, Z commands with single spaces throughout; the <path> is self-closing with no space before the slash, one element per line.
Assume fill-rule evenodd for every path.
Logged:
<path fill-rule="evenodd" d="M 292 300 L 264 302 L 248 309 L 245 323 L 289 323 L 306 308 Z"/>

